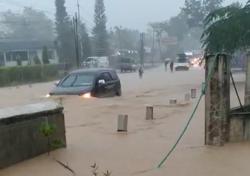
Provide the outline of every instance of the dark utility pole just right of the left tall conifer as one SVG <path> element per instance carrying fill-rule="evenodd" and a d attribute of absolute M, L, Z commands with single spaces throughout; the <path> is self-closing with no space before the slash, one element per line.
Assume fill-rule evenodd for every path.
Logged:
<path fill-rule="evenodd" d="M 73 32 L 74 32 L 74 40 L 75 40 L 76 66 L 77 66 L 77 68 L 80 68 L 78 15 L 77 15 L 77 13 L 75 13 L 75 17 L 73 17 Z"/>

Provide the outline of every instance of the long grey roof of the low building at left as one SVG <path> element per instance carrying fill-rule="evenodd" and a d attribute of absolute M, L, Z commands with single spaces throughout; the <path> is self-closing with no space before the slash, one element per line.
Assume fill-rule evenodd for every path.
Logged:
<path fill-rule="evenodd" d="M 44 46 L 47 48 L 55 48 L 53 41 L 1 41 L 0 51 L 15 51 L 15 50 L 36 50 Z"/>

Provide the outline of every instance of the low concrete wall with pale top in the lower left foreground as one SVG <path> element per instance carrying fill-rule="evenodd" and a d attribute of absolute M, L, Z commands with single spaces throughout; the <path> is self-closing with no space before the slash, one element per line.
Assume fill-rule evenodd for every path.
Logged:
<path fill-rule="evenodd" d="M 0 109 L 0 168 L 47 152 L 47 138 L 40 132 L 43 122 L 56 125 L 51 141 L 66 146 L 63 108 L 46 102 Z"/>

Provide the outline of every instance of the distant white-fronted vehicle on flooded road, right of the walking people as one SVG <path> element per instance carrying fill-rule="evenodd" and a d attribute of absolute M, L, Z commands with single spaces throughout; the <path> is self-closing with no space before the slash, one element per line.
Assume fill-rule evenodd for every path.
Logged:
<path fill-rule="evenodd" d="M 175 71 L 188 71 L 190 67 L 189 61 L 185 54 L 178 54 L 174 62 Z"/>

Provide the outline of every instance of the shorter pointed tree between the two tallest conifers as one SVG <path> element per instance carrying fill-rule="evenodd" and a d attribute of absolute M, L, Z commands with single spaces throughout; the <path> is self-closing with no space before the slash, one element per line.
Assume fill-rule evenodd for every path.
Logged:
<path fill-rule="evenodd" d="M 89 38 L 88 31 L 86 29 L 86 26 L 84 23 L 80 24 L 79 27 L 80 32 L 80 43 L 82 46 L 82 59 L 86 59 L 87 57 L 92 55 L 92 47 L 91 47 L 91 41 Z"/>

